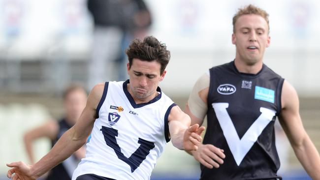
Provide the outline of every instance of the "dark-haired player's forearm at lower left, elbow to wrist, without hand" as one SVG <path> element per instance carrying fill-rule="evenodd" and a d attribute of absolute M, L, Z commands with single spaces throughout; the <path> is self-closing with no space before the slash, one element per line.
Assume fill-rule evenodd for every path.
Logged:
<path fill-rule="evenodd" d="M 32 174 L 40 177 L 85 144 L 86 139 L 77 139 L 75 137 L 77 136 L 73 128 L 66 131 L 52 150 L 32 166 Z"/>

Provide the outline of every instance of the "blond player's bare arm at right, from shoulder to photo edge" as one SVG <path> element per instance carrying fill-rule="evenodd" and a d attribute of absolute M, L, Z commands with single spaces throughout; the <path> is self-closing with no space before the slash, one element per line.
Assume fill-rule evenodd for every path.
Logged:
<path fill-rule="evenodd" d="M 294 88 L 284 82 L 279 117 L 298 160 L 313 180 L 320 180 L 319 152 L 306 133 L 299 114 L 299 99 Z"/>

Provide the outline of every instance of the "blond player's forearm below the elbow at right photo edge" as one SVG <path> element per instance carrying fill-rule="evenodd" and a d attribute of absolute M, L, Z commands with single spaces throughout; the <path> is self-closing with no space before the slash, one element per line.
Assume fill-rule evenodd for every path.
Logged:
<path fill-rule="evenodd" d="M 320 180 L 320 156 L 310 138 L 306 138 L 301 146 L 293 146 L 293 150 L 310 177 Z"/>

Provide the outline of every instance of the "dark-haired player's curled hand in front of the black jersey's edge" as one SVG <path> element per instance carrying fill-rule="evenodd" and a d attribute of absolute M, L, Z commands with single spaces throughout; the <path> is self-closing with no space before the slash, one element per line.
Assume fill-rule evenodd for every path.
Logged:
<path fill-rule="evenodd" d="M 197 150 L 198 145 L 202 142 L 201 134 L 205 127 L 199 127 L 199 124 L 194 124 L 186 129 L 183 138 L 183 147 L 185 150 Z"/>

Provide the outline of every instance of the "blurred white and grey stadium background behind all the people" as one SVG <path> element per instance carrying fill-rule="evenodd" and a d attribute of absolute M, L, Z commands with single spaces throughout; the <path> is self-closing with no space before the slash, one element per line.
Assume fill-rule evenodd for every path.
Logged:
<path fill-rule="evenodd" d="M 165 42 L 171 60 L 160 87 L 182 108 L 201 74 L 233 60 L 232 16 L 237 8 L 253 3 L 265 9 L 270 15 L 271 46 L 266 49 L 264 62 L 296 88 L 304 126 L 320 150 L 319 1 L 144 2 L 152 21 L 147 30 L 140 34 L 130 31 L 129 37 L 122 29 L 120 54 L 133 37 L 148 34 Z M 124 12 L 129 12 L 130 6 L 126 7 Z M 89 65 L 94 32 L 87 0 L 0 0 L 0 179 L 8 170 L 5 163 L 28 162 L 23 133 L 49 117 L 61 117 L 61 94 L 68 84 L 77 82 L 87 90 L 92 88 Z M 109 43 L 102 48 L 115 46 Z M 125 68 L 125 63 L 120 63 L 107 78 L 126 77 Z M 280 133 L 278 137 L 283 136 Z M 309 180 L 286 137 L 279 139 L 282 142 L 278 149 L 284 154 L 284 180 Z M 50 149 L 50 142 L 39 141 L 34 146 L 38 150 L 36 157 L 40 158 Z M 198 176 L 198 163 L 193 157 L 169 143 L 152 179 L 195 180 Z"/>

